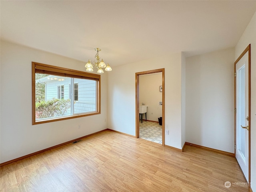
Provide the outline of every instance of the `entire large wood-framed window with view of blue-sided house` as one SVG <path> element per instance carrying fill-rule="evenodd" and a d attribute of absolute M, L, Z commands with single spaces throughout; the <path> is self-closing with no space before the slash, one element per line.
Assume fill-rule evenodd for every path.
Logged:
<path fill-rule="evenodd" d="M 32 124 L 100 114 L 100 75 L 32 62 L 32 107 Z"/>

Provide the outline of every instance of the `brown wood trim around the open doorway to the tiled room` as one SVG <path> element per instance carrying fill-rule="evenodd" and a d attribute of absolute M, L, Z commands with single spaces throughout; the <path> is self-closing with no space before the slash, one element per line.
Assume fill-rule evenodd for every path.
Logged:
<path fill-rule="evenodd" d="M 137 72 L 135 73 L 135 120 L 136 120 L 136 131 L 135 131 L 135 137 L 139 138 L 140 130 L 139 130 L 139 76 L 144 74 L 152 74 L 152 73 L 158 73 L 162 72 L 162 146 L 164 146 L 164 68 L 162 69 L 156 69 L 156 70 L 150 70 L 150 71 L 143 71 L 143 72 Z"/>

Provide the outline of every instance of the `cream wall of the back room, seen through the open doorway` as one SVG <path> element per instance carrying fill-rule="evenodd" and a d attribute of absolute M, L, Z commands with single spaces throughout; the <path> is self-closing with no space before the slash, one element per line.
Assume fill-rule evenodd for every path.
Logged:
<path fill-rule="evenodd" d="M 148 106 L 147 120 L 158 122 L 158 118 L 162 117 L 162 92 L 159 86 L 162 86 L 162 73 L 140 75 L 139 83 L 139 104 L 144 103 Z M 143 115 L 145 119 L 145 115 Z"/>

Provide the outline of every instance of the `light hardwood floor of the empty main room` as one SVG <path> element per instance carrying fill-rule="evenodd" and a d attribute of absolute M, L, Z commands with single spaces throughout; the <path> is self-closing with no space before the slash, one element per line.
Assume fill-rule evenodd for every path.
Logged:
<path fill-rule="evenodd" d="M 224 183 L 231 182 L 226 188 Z M 104 131 L 2 166 L 0 192 L 248 192 L 236 159 Z"/>

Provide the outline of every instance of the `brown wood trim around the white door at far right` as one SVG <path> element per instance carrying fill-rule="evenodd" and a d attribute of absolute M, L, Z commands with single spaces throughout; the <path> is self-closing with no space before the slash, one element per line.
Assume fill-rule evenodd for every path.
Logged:
<path fill-rule="evenodd" d="M 248 115 L 249 115 L 249 121 L 248 121 L 248 163 L 249 163 L 249 172 L 248 172 L 248 183 L 251 182 L 251 44 L 249 44 L 245 50 L 242 52 L 242 54 L 237 58 L 237 60 L 234 63 L 234 74 L 236 74 L 236 64 L 237 62 L 248 52 Z M 234 87 L 235 87 L 235 100 L 234 100 L 234 106 L 236 109 L 236 75 L 234 78 Z M 235 146 L 236 146 L 236 112 L 234 113 L 234 125 L 235 125 Z M 235 156 L 236 156 L 236 148 L 235 148 Z"/>

